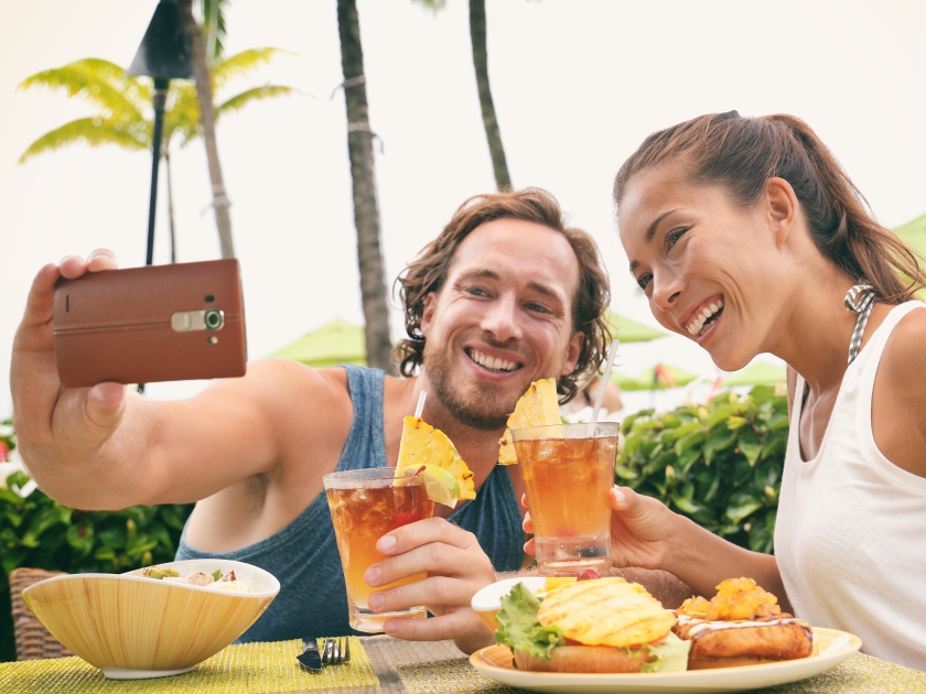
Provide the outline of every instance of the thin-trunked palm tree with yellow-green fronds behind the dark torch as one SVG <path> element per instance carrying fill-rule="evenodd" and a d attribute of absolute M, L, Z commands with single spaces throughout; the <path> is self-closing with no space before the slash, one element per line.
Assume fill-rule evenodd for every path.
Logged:
<path fill-rule="evenodd" d="M 245 76 L 273 57 L 287 54 L 280 48 L 250 48 L 215 64 L 212 80 L 213 90 L 225 91 L 236 77 Z M 96 112 L 88 118 L 73 120 L 60 128 L 46 132 L 23 152 L 20 163 L 43 152 L 57 150 L 75 142 L 90 147 L 117 144 L 128 150 L 151 150 L 152 122 L 143 113 L 152 107 L 151 80 L 147 77 L 126 75 L 125 68 L 99 58 L 84 58 L 36 73 L 26 77 L 20 89 L 46 87 L 62 89 L 71 97 L 82 97 L 96 107 Z M 215 108 L 218 121 L 225 115 L 243 109 L 251 101 L 279 97 L 295 93 L 291 87 L 268 85 L 255 87 L 236 94 L 222 101 Z M 161 156 L 168 176 L 168 220 L 171 230 L 171 260 L 175 260 L 175 232 L 173 220 L 173 191 L 171 186 L 170 148 L 176 138 L 180 147 L 203 134 L 200 104 L 196 87 L 191 83 L 171 82 L 168 105 L 164 112 L 164 130 L 161 140 Z"/>

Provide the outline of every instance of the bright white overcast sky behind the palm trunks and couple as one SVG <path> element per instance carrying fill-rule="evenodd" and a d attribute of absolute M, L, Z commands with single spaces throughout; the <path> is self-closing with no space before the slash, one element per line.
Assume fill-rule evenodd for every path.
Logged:
<path fill-rule="evenodd" d="M 82 57 L 128 65 L 155 0 L 0 4 L 0 419 L 32 276 L 65 254 L 116 250 L 144 263 L 150 158 L 71 147 L 19 165 L 41 134 L 91 113 L 63 94 L 17 91 Z M 887 226 L 926 212 L 926 3 L 916 0 L 617 2 L 488 0 L 493 94 L 516 186 L 554 193 L 599 241 L 614 307 L 655 325 L 626 270 L 613 175 L 648 133 L 704 112 L 790 112 L 836 152 Z M 465 0 L 433 14 L 411 0 L 358 0 L 386 272 L 395 278 L 466 197 L 494 188 Z M 248 347 L 266 356 L 334 317 L 360 323 L 335 0 L 235 0 L 229 55 L 278 46 L 254 79 L 304 95 L 250 106 L 218 128 L 243 264 Z M 230 91 L 229 91 L 230 94 Z M 218 95 L 220 98 L 222 95 Z M 174 152 L 180 261 L 218 258 L 201 142 Z M 161 202 L 165 191 L 161 188 Z M 166 262 L 161 205 L 155 262 Z M 392 314 L 394 332 L 400 329 Z M 622 348 L 710 373 L 680 337 Z M 198 384 L 154 384 L 172 398 Z"/>

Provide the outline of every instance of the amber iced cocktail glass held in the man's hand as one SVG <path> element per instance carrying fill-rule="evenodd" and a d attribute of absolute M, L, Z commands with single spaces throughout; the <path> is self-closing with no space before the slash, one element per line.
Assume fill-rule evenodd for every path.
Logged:
<path fill-rule="evenodd" d="M 387 619 L 423 619 L 424 607 L 395 612 L 374 612 L 367 600 L 376 590 L 385 590 L 428 576 L 416 574 L 376 588 L 367 585 L 364 573 L 385 557 L 376 550 L 377 541 L 390 530 L 434 514 L 420 478 L 395 477 L 390 467 L 332 473 L 323 477 L 325 495 L 347 585 L 347 610 L 351 626 L 370 633 L 383 631 Z"/>

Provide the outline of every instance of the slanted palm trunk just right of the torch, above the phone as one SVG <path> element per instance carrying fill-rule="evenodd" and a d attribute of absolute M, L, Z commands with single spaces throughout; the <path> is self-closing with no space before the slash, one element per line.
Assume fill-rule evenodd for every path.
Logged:
<path fill-rule="evenodd" d="M 228 197 L 225 195 L 225 183 L 222 178 L 222 166 L 218 163 L 218 147 L 215 140 L 215 109 L 212 100 L 212 77 L 203 45 L 203 34 L 193 18 L 192 0 L 179 0 L 183 30 L 190 37 L 190 53 L 193 57 L 193 71 L 196 73 L 196 100 L 200 102 L 201 122 L 203 124 L 203 140 L 206 143 L 206 159 L 209 165 L 209 178 L 213 185 L 213 208 L 215 209 L 215 225 L 218 227 L 218 240 L 222 245 L 222 257 L 234 258 L 235 246 L 232 242 L 232 217 L 228 214 Z"/>

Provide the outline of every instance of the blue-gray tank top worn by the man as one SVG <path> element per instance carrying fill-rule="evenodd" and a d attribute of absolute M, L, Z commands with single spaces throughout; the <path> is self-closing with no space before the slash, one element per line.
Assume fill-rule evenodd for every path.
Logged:
<path fill-rule="evenodd" d="M 336 469 L 386 467 L 383 371 L 345 368 L 354 421 Z M 524 532 L 508 470 L 496 466 L 478 489 L 476 499 L 463 505 L 448 520 L 476 535 L 496 571 L 520 568 Z M 344 575 L 324 492 L 278 533 L 233 552 L 196 550 L 186 542 L 184 529 L 176 559 L 247 562 L 269 571 L 280 581 L 280 594 L 238 642 L 358 633 L 347 623 Z"/>

